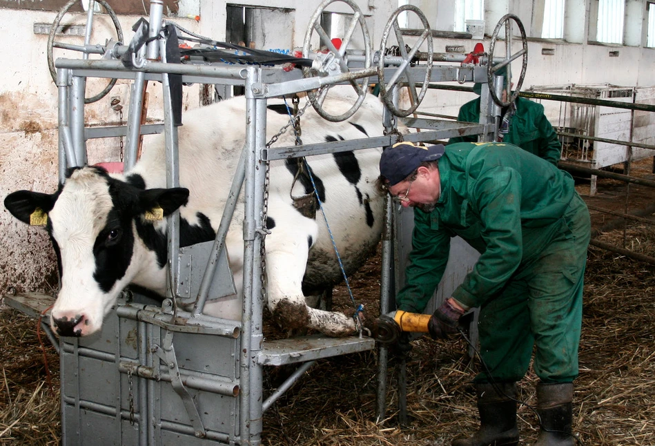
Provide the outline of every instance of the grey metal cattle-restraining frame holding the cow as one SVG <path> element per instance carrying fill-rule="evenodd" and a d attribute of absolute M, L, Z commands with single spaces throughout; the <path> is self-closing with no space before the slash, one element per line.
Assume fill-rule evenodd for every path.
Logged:
<path fill-rule="evenodd" d="M 92 9 L 92 7 L 90 7 Z M 162 24 L 162 0 L 152 0 L 150 3 L 150 37 L 157 37 L 161 31 Z M 83 411 L 97 412 L 106 416 L 113 416 L 116 420 L 115 427 L 119 431 L 114 438 L 114 443 L 122 443 L 125 438 L 122 436 L 122 427 L 126 426 L 126 420 L 137 423 L 138 433 L 135 436 L 130 434 L 129 438 L 136 438 L 139 445 L 157 444 L 162 434 L 166 432 L 177 432 L 179 435 L 195 436 L 206 438 L 219 443 L 259 445 L 262 434 L 262 414 L 271 407 L 286 389 L 302 376 L 306 369 L 309 369 L 315 360 L 338 356 L 357 351 L 373 349 L 375 343 L 371 338 L 303 338 L 302 342 L 296 339 L 264 342 L 262 334 L 262 318 L 264 296 L 262 295 L 262 271 L 261 254 L 262 234 L 264 228 L 262 222 L 257 219 L 261 215 L 264 206 L 264 180 L 265 164 L 272 159 L 288 157 L 301 157 L 306 155 L 317 155 L 320 153 L 338 153 L 342 151 L 360 150 L 380 146 L 391 146 L 398 142 L 400 136 L 394 132 L 396 119 L 388 110 L 384 117 L 384 128 L 387 130 L 384 137 L 373 137 L 343 142 L 326 144 L 309 144 L 300 147 L 266 148 L 266 100 L 269 97 L 277 97 L 290 93 L 311 90 L 329 84 L 349 84 L 353 79 L 369 77 L 377 72 L 368 70 L 352 70 L 340 75 L 324 77 L 302 78 L 299 70 L 293 72 L 282 72 L 275 68 L 261 68 L 249 66 L 222 65 L 194 65 L 192 64 L 167 64 L 165 59 L 157 60 L 164 55 L 166 42 L 162 39 L 153 39 L 146 47 L 142 48 L 137 55 L 137 66 L 139 68 L 128 69 L 120 61 L 114 59 L 126 51 L 126 47 L 114 45 L 107 49 L 106 59 L 58 59 L 57 87 L 59 90 L 59 182 L 63 183 L 65 172 L 68 167 L 81 166 L 86 164 L 86 139 L 94 137 L 110 137 L 126 135 L 126 170 L 134 166 L 136 162 L 137 142 L 139 134 L 157 133 L 164 131 L 166 140 L 166 163 L 167 163 L 167 186 L 175 187 L 178 184 L 179 166 L 177 161 L 177 128 L 173 123 L 170 91 L 168 88 L 168 75 L 182 75 L 186 83 L 201 82 L 204 84 L 235 84 L 245 86 L 246 91 L 246 142 L 244 151 L 237 167 L 237 174 L 231 187 L 232 200 L 226 203 L 223 220 L 217 231 L 217 236 L 209 254 L 209 260 L 199 287 L 199 293 L 195 300 L 195 306 L 190 312 L 181 311 L 176 307 L 177 283 L 179 278 L 179 240 L 178 240 L 178 219 L 179 214 L 175 213 L 168 224 L 168 264 L 173 265 L 170 269 L 170 287 L 168 299 L 162 307 L 143 305 L 135 306 L 130 302 L 119 305 L 116 311 L 117 323 L 131 324 L 136 331 L 133 358 L 124 358 L 119 347 L 115 351 L 104 351 L 95 349 L 94 340 L 77 340 L 61 338 L 61 369 L 66 370 L 77 379 L 77 393 L 73 396 L 66 395 L 63 391 L 62 382 L 62 441 L 63 444 L 81 444 L 81 413 Z M 435 55 L 437 60 L 463 61 L 451 55 Z M 395 60 L 400 59 L 400 60 Z M 388 58 L 388 63 L 402 64 L 402 58 Z M 357 56 L 349 57 L 349 63 L 358 63 Z M 393 76 L 396 68 L 384 68 L 389 70 L 389 77 Z M 407 79 L 416 83 L 426 81 L 425 69 L 418 67 L 407 68 Z M 104 129 L 88 129 L 84 126 L 84 85 L 87 77 L 106 77 L 109 79 L 134 79 L 131 99 L 129 120 L 126 127 L 108 127 Z M 458 81 L 460 79 L 478 81 L 485 84 L 487 79 L 487 68 L 485 66 L 433 66 L 429 81 Z M 164 88 L 164 124 L 145 126 L 141 125 L 141 98 L 145 88 L 146 80 L 157 80 L 162 82 Z M 485 84 L 486 86 L 486 84 Z M 484 94 L 485 92 L 483 92 Z M 488 92 L 487 92 L 488 93 Z M 397 104 L 398 98 L 394 98 Z M 488 102 L 488 104 L 491 104 Z M 491 112 L 491 107 L 487 112 Z M 491 113 L 489 120 L 492 119 Z M 485 118 L 486 119 L 486 118 Z M 461 124 L 452 122 L 438 122 L 427 119 L 405 119 L 408 126 L 424 128 L 427 131 L 404 135 L 405 141 L 430 142 L 433 140 L 452 137 L 455 135 L 489 135 L 489 124 Z M 229 321 L 220 318 L 211 318 L 202 314 L 204 302 L 207 298 L 208 287 L 211 287 L 216 273 L 217 264 L 222 254 L 225 236 L 229 221 L 236 206 L 237 197 L 244 189 L 245 197 L 245 218 L 244 218 L 244 302 L 242 321 Z M 382 237 L 382 289 L 380 297 L 380 309 L 382 313 L 389 311 L 389 299 L 393 293 L 391 281 L 393 279 L 394 251 L 393 246 L 393 222 L 398 221 L 398 216 L 391 202 L 387 202 L 387 215 L 384 224 Z M 396 251 L 397 252 L 397 251 Z M 193 298 L 193 296 L 192 296 Z M 21 301 L 17 296 L 13 302 Z M 22 304 L 26 304 L 23 300 Z M 12 300 L 8 300 L 12 304 Z M 189 303 L 189 300 L 184 301 Z M 177 325 L 171 322 L 170 315 L 186 320 L 184 325 Z M 173 333 L 185 333 L 178 336 L 215 336 L 223 338 L 225 342 L 235 342 L 232 353 L 226 353 L 226 360 L 234 361 L 238 380 L 232 378 L 216 378 L 200 372 L 181 371 L 177 367 L 177 357 L 173 343 Z M 116 333 L 105 333 L 108 339 L 120 345 L 124 342 L 121 338 L 121 331 Z M 103 336 L 105 336 L 103 335 Z M 300 346 L 302 344 L 302 347 Z M 153 347 L 154 346 L 154 347 Z M 309 347 L 308 347 L 309 346 Z M 178 346 L 179 347 L 179 346 Z M 238 351 L 238 353 L 237 353 Z M 179 349 L 178 349 L 179 353 Z M 115 364 L 115 371 L 111 372 L 119 381 L 121 395 L 115 400 L 116 407 L 106 407 L 100 404 L 84 401 L 81 398 L 81 385 L 78 371 L 80 362 L 87 357 L 96 360 L 111 362 Z M 380 349 L 380 364 L 378 373 L 378 420 L 384 419 L 386 411 L 386 376 L 387 376 L 387 350 Z M 162 371 L 159 362 L 164 362 L 170 367 L 170 372 Z M 263 399 L 262 376 L 265 365 L 284 365 L 300 363 L 295 374 L 280 386 L 267 400 Z M 72 369 L 72 371 L 70 370 Z M 237 373 L 238 372 L 238 373 Z M 62 373 L 62 376 L 65 374 Z M 135 389 L 133 390 L 133 380 Z M 155 402 L 161 398 L 162 384 L 157 381 L 170 382 L 175 393 L 184 402 L 187 414 L 190 417 L 190 425 L 162 425 L 157 418 Z M 138 407 L 148 407 L 154 410 L 146 413 L 134 413 L 121 409 L 122 396 L 125 393 L 124 387 L 128 382 L 128 394 L 130 395 L 130 406 L 135 401 Z M 66 390 L 70 390 L 70 382 L 66 384 Z M 190 397 L 188 389 L 204 389 L 222 396 L 236 398 L 238 404 L 233 411 L 232 425 L 234 434 L 221 434 L 211 432 L 204 427 L 202 416 L 197 415 L 196 403 Z M 95 389 L 93 389 L 95 391 Z M 137 396 L 135 397 L 135 393 Z M 197 416 L 193 416 L 193 411 Z M 150 409 L 148 409 L 150 410 Z M 144 417 L 147 420 L 139 417 Z M 150 418 L 154 416 L 157 422 L 153 423 Z M 72 418 L 71 418 L 72 417 Z M 68 426 L 71 420 L 75 420 L 76 426 Z M 139 423 L 140 421 L 140 423 Z M 238 429 L 236 426 L 238 423 Z M 175 424 L 175 423 L 173 423 Z M 194 443 L 195 444 L 195 443 Z"/>

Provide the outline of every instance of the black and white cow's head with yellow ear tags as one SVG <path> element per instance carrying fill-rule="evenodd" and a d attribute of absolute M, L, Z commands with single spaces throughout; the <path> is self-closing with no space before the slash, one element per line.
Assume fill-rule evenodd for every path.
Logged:
<path fill-rule="evenodd" d="M 135 225 L 153 209 L 168 215 L 188 199 L 185 188 L 145 189 L 140 177 L 130 180 L 110 177 L 101 168 L 75 168 L 54 194 L 17 191 L 5 198 L 5 207 L 22 222 L 47 216 L 61 278 L 51 325 L 61 336 L 86 336 L 101 328 L 139 269 L 133 258 Z"/>

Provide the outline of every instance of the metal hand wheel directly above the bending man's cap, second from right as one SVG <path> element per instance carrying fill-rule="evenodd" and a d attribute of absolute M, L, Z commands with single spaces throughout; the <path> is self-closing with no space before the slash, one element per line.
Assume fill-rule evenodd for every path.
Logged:
<path fill-rule="evenodd" d="M 414 43 L 414 46 L 409 53 L 407 52 L 407 48 L 405 48 L 404 39 L 402 38 L 402 32 L 400 32 L 400 26 L 398 25 L 398 17 L 404 11 L 411 11 L 414 14 L 418 15 L 419 19 L 421 19 L 421 22 L 423 23 L 423 28 L 424 28 L 422 34 L 420 35 L 420 37 L 418 37 L 416 43 Z M 396 41 L 398 41 L 398 50 L 400 51 L 402 62 L 400 63 L 400 66 L 398 66 L 398 70 L 396 70 L 393 73 L 393 76 L 391 76 L 391 79 L 389 79 L 388 82 L 385 82 L 384 81 L 384 65 L 385 65 L 384 55 L 386 55 L 388 52 L 387 41 L 389 40 L 389 35 L 391 34 L 392 28 L 393 28 L 393 34 L 395 35 L 395 39 Z M 416 55 L 423 42 L 427 42 L 427 52 L 424 53 L 427 58 L 427 65 L 421 67 L 421 68 L 425 68 L 425 78 L 423 80 L 423 85 L 421 87 L 420 93 L 418 93 L 417 95 L 416 84 L 414 84 L 414 81 L 409 73 L 408 68 L 410 66 L 413 57 Z M 429 86 L 428 84 L 432 72 L 432 57 L 433 57 L 432 32 L 430 29 L 430 23 L 428 22 L 427 18 L 425 17 L 423 12 L 421 12 L 420 9 L 416 8 L 416 6 L 412 6 L 412 5 L 400 6 L 400 8 L 398 8 L 397 10 L 395 10 L 395 12 L 393 12 L 393 14 L 391 14 L 391 18 L 387 22 L 387 26 L 384 28 L 384 32 L 382 33 L 382 43 L 380 43 L 380 59 L 378 61 L 378 77 L 380 78 L 380 97 L 382 97 L 382 101 L 384 101 L 384 104 L 387 106 L 387 108 L 391 113 L 393 113 L 396 116 L 405 117 L 410 113 L 413 113 L 416 110 L 416 108 L 418 108 L 421 101 L 423 100 L 423 97 L 425 96 L 425 93 L 428 90 L 428 86 Z M 393 92 L 395 89 L 398 88 L 398 82 L 400 81 L 401 77 L 404 77 L 405 81 L 407 81 L 407 89 L 409 90 L 409 103 L 411 104 L 411 106 L 406 109 L 399 108 L 395 106 L 395 104 L 393 104 Z"/>

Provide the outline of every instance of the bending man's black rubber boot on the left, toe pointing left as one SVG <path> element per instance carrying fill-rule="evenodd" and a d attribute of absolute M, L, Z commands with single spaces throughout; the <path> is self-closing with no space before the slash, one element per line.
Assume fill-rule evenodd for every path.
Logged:
<path fill-rule="evenodd" d="M 497 391 L 496 388 L 498 388 Z M 516 446 L 516 382 L 478 384 L 480 429 L 473 436 L 454 440 L 453 446 Z M 511 398 L 514 398 L 512 400 Z"/>

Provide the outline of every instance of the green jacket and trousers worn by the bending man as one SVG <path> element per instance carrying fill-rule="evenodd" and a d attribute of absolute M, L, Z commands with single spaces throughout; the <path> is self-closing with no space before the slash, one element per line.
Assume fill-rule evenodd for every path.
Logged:
<path fill-rule="evenodd" d="M 438 168 L 436 209 L 414 209 L 398 309 L 423 311 L 442 278 L 450 239 L 459 235 L 480 259 L 452 296 L 480 307 L 480 351 L 493 379 L 520 380 L 536 344 L 542 382 L 571 382 L 578 375 L 590 235 L 589 211 L 573 179 L 505 143 L 451 144 Z"/>

